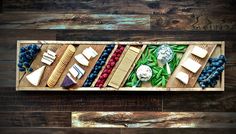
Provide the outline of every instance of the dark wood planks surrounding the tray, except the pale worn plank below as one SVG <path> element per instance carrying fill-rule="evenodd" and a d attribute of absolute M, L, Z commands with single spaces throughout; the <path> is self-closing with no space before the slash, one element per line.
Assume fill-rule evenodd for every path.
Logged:
<path fill-rule="evenodd" d="M 234 0 L 1 0 L 0 5 L 0 133 L 235 132 L 235 128 L 227 126 L 217 129 L 70 128 L 73 111 L 235 113 Z M 225 92 L 15 92 L 16 41 L 31 39 L 223 40 L 228 59 Z"/>

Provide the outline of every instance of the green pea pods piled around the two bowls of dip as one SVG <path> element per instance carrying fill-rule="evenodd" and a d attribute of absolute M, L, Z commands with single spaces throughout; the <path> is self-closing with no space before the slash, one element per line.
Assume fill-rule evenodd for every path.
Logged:
<path fill-rule="evenodd" d="M 138 82 L 139 80 L 136 76 L 136 70 L 141 65 L 148 65 L 151 67 L 153 75 L 149 80 L 149 82 L 151 82 L 151 85 L 153 87 L 160 87 L 160 86 L 166 87 L 169 75 L 167 73 L 166 66 L 163 67 L 158 66 L 157 52 L 159 46 L 160 45 L 148 45 L 148 47 L 143 52 L 141 58 L 139 59 L 139 61 L 136 63 L 129 78 L 127 79 L 125 83 L 126 87 L 141 86 L 142 82 Z M 169 62 L 169 66 L 171 72 L 174 72 L 175 68 L 177 67 L 181 59 L 181 57 L 177 56 L 177 53 L 184 53 L 187 48 L 187 45 L 170 45 L 170 47 L 174 52 L 174 58 Z"/>

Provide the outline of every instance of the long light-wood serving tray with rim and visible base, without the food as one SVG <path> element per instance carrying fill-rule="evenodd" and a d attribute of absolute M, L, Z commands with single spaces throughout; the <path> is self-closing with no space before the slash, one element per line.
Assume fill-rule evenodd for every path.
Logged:
<path fill-rule="evenodd" d="M 22 73 L 19 72 L 18 67 L 16 68 L 16 90 L 17 91 L 224 91 L 224 79 L 225 79 L 225 73 L 223 71 L 222 73 L 222 77 L 221 79 L 218 81 L 216 87 L 214 88 L 205 88 L 204 90 L 202 88 L 199 87 L 198 84 L 196 84 L 196 81 L 194 82 L 192 79 L 194 78 L 195 80 L 197 80 L 197 77 L 199 76 L 201 70 L 203 69 L 203 67 L 206 65 L 206 61 L 208 60 L 208 58 L 211 57 L 217 57 L 220 54 L 225 54 L 225 43 L 224 41 L 157 41 L 157 42 L 145 42 L 145 41 L 141 41 L 141 42 L 123 42 L 123 41 L 45 41 L 45 40 L 21 40 L 17 42 L 17 63 L 18 63 L 18 53 L 20 50 L 21 46 L 24 45 L 29 45 L 29 44 L 39 44 L 41 45 L 41 52 L 37 55 L 37 57 L 35 58 L 35 60 L 32 62 L 31 67 L 36 70 L 39 67 L 43 66 L 44 64 L 41 63 L 41 58 L 42 58 L 42 54 L 47 50 L 47 49 L 51 49 L 53 51 L 55 51 L 57 53 L 57 58 L 54 61 L 54 63 L 51 66 L 46 66 L 45 68 L 45 72 L 42 76 L 42 79 L 40 81 L 39 86 L 33 86 L 31 85 L 27 79 L 26 79 L 26 75 L 28 73 Z M 98 52 L 98 56 L 95 57 L 94 59 L 90 59 L 90 65 L 89 67 L 84 67 L 82 65 L 80 65 L 79 63 L 77 63 L 77 61 L 73 58 L 69 61 L 69 63 L 67 64 L 65 71 L 63 72 L 63 74 L 61 75 L 60 79 L 58 80 L 58 83 L 56 84 L 55 87 L 50 88 L 46 86 L 46 82 L 50 76 L 50 74 L 52 73 L 52 71 L 54 70 L 55 66 L 58 64 L 58 61 L 60 60 L 61 56 L 63 55 L 64 51 L 66 50 L 67 46 L 69 44 L 72 44 L 76 47 L 76 52 L 74 54 L 77 55 L 79 53 L 82 53 L 82 51 L 91 46 L 93 49 L 95 49 Z M 173 83 L 176 84 L 176 86 L 171 86 L 171 84 L 169 85 L 167 83 L 167 87 L 166 88 L 162 88 L 162 87 L 152 87 L 151 85 L 145 84 L 145 87 L 120 87 L 118 89 L 116 88 L 112 88 L 112 87 L 104 87 L 104 88 L 98 88 L 98 87 L 81 87 L 84 83 L 84 81 L 87 79 L 88 75 L 91 73 L 91 70 L 93 69 L 94 65 L 96 64 L 96 61 L 98 60 L 98 58 L 100 57 L 101 53 L 103 52 L 104 48 L 106 47 L 106 45 L 108 44 L 122 44 L 122 45 L 127 45 L 125 47 L 124 52 L 122 53 L 119 61 L 116 63 L 115 67 L 113 68 L 112 73 L 109 75 L 107 81 L 105 82 L 105 84 L 107 85 L 108 82 L 110 81 L 111 77 L 114 75 L 114 72 L 116 70 L 116 68 L 119 66 L 121 60 L 123 59 L 124 54 L 126 53 L 127 48 L 129 48 L 130 46 L 135 46 L 135 47 L 139 47 L 141 49 L 139 55 L 137 56 L 137 58 L 135 59 L 135 62 L 132 64 L 132 66 L 129 68 L 128 71 L 128 75 L 126 75 L 126 77 L 122 80 L 122 85 L 125 83 L 126 79 L 129 76 L 129 73 L 133 70 L 133 67 L 135 66 L 135 63 L 139 60 L 143 50 L 146 48 L 147 45 L 151 44 L 151 45 L 162 45 L 162 44 L 172 44 L 172 45 L 189 45 L 186 53 L 184 54 L 182 60 L 186 60 L 186 57 L 192 58 L 195 61 L 199 62 L 200 64 L 202 64 L 202 68 L 197 72 L 197 74 L 188 74 L 190 75 L 191 80 L 191 84 L 188 85 L 187 87 L 185 85 L 182 85 L 182 83 L 180 83 L 180 81 L 178 81 L 177 79 L 173 79 L 175 78 L 174 76 L 176 75 L 176 72 L 178 70 L 181 71 L 187 71 L 185 68 L 181 67 L 182 64 L 182 60 L 179 64 L 179 66 L 176 68 L 176 70 L 173 72 L 172 76 L 169 78 L 170 79 L 170 83 L 171 81 Z M 197 57 L 191 57 L 193 55 L 190 54 L 191 49 L 194 45 L 198 45 L 201 47 L 206 47 L 205 45 L 208 45 L 207 47 L 207 51 L 208 51 L 208 55 L 206 58 L 202 59 L 198 59 Z M 115 49 L 114 49 L 115 50 Z M 114 51 L 113 50 L 113 51 Z M 112 55 L 112 53 L 109 55 L 109 57 Z M 107 61 L 110 59 L 108 57 Z M 77 63 L 79 66 L 81 66 L 85 71 L 85 75 L 83 75 L 83 77 L 80 80 L 77 80 L 78 84 L 75 85 L 74 87 L 70 88 L 70 90 L 68 89 L 63 89 L 62 87 L 60 87 L 61 82 L 63 81 L 65 75 L 68 73 L 69 68 L 74 64 Z M 16 65 L 17 66 L 17 65 Z M 103 69 L 102 69 L 103 70 Z M 102 71 L 100 71 L 101 73 Z M 98 75 L 99 76 L 99 75 Z M 176 81 L 177 80 L 177 81 Z M 95 80 L 96 81 L 96 80 Z M 179 83 L 180 84 L 179 84 Z M 193 84 L 195 83 L 195 84 Z"/>

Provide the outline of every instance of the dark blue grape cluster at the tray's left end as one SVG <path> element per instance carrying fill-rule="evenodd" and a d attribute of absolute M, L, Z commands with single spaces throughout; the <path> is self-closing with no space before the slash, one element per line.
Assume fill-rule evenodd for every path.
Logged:
<path fill-rule="evenodd" d="M 30 68 L 30 64 L 33 61 L 33 59 L 36 57 L 39 51 L 40 51 L 40 47 L 37 44 L 30 44 L 30 45 L 21 47 L 20 52 L 19 52 L 19 62 L 18 62 L 19 71 L 32 72 L 33 69 Z"/>

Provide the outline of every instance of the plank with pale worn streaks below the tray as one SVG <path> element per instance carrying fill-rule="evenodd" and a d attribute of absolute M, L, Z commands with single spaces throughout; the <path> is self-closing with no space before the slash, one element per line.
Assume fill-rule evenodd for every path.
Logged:
<path fill-rule="evenodd" d="M 73 112 L 72 127 L 89 128 L 235 128 L 235 113 Z"/>

